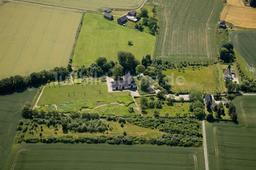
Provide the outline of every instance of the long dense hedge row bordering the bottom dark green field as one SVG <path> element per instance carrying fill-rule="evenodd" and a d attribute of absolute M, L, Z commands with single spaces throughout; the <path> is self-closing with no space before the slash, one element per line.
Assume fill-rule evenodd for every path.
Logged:
<path fill-rule="evenodd" d="M 108 144 L 151 144 L 151 145 L 169 145 L 169 146 L 183 146 L 183 147 L 200 147 L 202 145 L 202 140 L 197 137 L 188 137 L 185 135 L 177 134 L 164 134 L 162 137 L 158 138 L 145 138 L 137 136 L 78 136 L 73 137 L 71 135 L 65 135 L 60 137 L 42 137 L 42 138 L 24 138 L 26 143 L 108 143 Z"/>

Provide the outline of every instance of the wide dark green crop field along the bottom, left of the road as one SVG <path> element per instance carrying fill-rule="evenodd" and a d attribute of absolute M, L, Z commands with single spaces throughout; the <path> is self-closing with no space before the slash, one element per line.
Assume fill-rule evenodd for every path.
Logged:
<path fill-rule="evenodd" d="M 38 154 L 40 153 L 40 154 Z M 205 169 L 202 148 L 14 144 L 4 169 Z"/>

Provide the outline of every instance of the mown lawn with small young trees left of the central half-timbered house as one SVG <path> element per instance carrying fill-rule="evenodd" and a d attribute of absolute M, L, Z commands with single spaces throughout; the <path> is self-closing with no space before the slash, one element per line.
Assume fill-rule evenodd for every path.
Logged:
<path fill-rule="evenodd" d="M 37 105 L 49 103 L 58 106 L 60 102 L 70 100 L 75 101 L 77 105 L 78 100 L 83 99 L 94 99 L 97 103 L 99 98 L 108 98 L 110 103 L 115 103 L 115 96 L 124 95 L 128 95 L 128 91 L 109 93 L 106 82 L 83 84 L 83 86 L 81 84 L 50 86 L 45 87 Z"/>

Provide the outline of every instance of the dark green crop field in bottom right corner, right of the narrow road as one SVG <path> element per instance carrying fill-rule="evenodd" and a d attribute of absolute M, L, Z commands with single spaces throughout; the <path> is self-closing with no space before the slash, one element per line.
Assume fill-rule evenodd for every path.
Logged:
<path fill-rule="evenodd" d="M 209 169 L 255 169 L 255 102 L 256 96 L 237 96 L 237 123 L 206 123 Z"/>

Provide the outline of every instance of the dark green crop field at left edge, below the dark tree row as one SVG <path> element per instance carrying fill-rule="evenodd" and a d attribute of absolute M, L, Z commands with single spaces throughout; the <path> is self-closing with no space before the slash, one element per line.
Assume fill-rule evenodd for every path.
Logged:
<path fill-rule="evenodd" d="M 0 169 L 16 135 L 16 127 L 21 119 L 20 108 L 25 102 L 31 101 L 36 92 L 37 89 L 0 95 Z"/>

